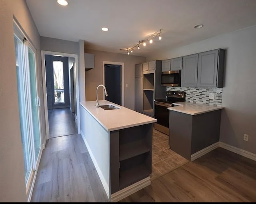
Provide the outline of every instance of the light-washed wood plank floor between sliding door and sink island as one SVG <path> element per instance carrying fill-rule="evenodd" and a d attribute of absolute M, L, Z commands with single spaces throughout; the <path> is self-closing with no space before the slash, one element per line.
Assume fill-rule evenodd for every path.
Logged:
<path fill-rule="evenodd" d="M 80 134 L 47 141 L 31 202 L 109 202 Z"/>

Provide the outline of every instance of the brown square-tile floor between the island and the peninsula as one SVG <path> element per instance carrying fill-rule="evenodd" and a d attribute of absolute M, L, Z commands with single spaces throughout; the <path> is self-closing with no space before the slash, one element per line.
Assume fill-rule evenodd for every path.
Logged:
<path fill-rule="evenodd" d="M 169 136 L 153 128 L 152 174 L 151 180 L 188 163 L 189 161 L 170 150 Z"/>

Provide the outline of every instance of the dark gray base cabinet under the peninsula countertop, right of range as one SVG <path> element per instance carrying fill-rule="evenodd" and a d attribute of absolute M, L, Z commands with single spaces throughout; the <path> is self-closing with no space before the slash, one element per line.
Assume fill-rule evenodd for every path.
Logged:
<path fill-rule="evenodd" d="M 191 161 L 193 154 L 218 142 L 221 111 L 190 115 L 170 110 L 170 149 Z"/>

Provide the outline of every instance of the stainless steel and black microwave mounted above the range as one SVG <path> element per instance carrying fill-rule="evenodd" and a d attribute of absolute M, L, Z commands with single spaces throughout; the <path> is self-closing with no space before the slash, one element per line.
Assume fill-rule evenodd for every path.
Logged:
<path fill-rule="evenodd" d="M 181 84 L 181 70 L 167 71 L 161 73 L 162 86 L 180 86 Z"/>

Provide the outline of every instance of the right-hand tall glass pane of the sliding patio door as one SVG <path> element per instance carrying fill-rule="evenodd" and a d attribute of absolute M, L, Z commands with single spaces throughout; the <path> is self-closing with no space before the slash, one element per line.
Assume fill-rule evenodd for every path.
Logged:
<path fill-rule="evenodd" d="M 31 94 L 31 110 L 32 110 L 32 123 L 33 123 L 33 136 L 34 153 L 37 161 L 41 141 L 40 141 L 40 124 L 39 124 L 39 98 L 37 95 L 36 86 L 36 54 L 28 47 L 28 63 L 30 75 L 30 94 Z"/>

